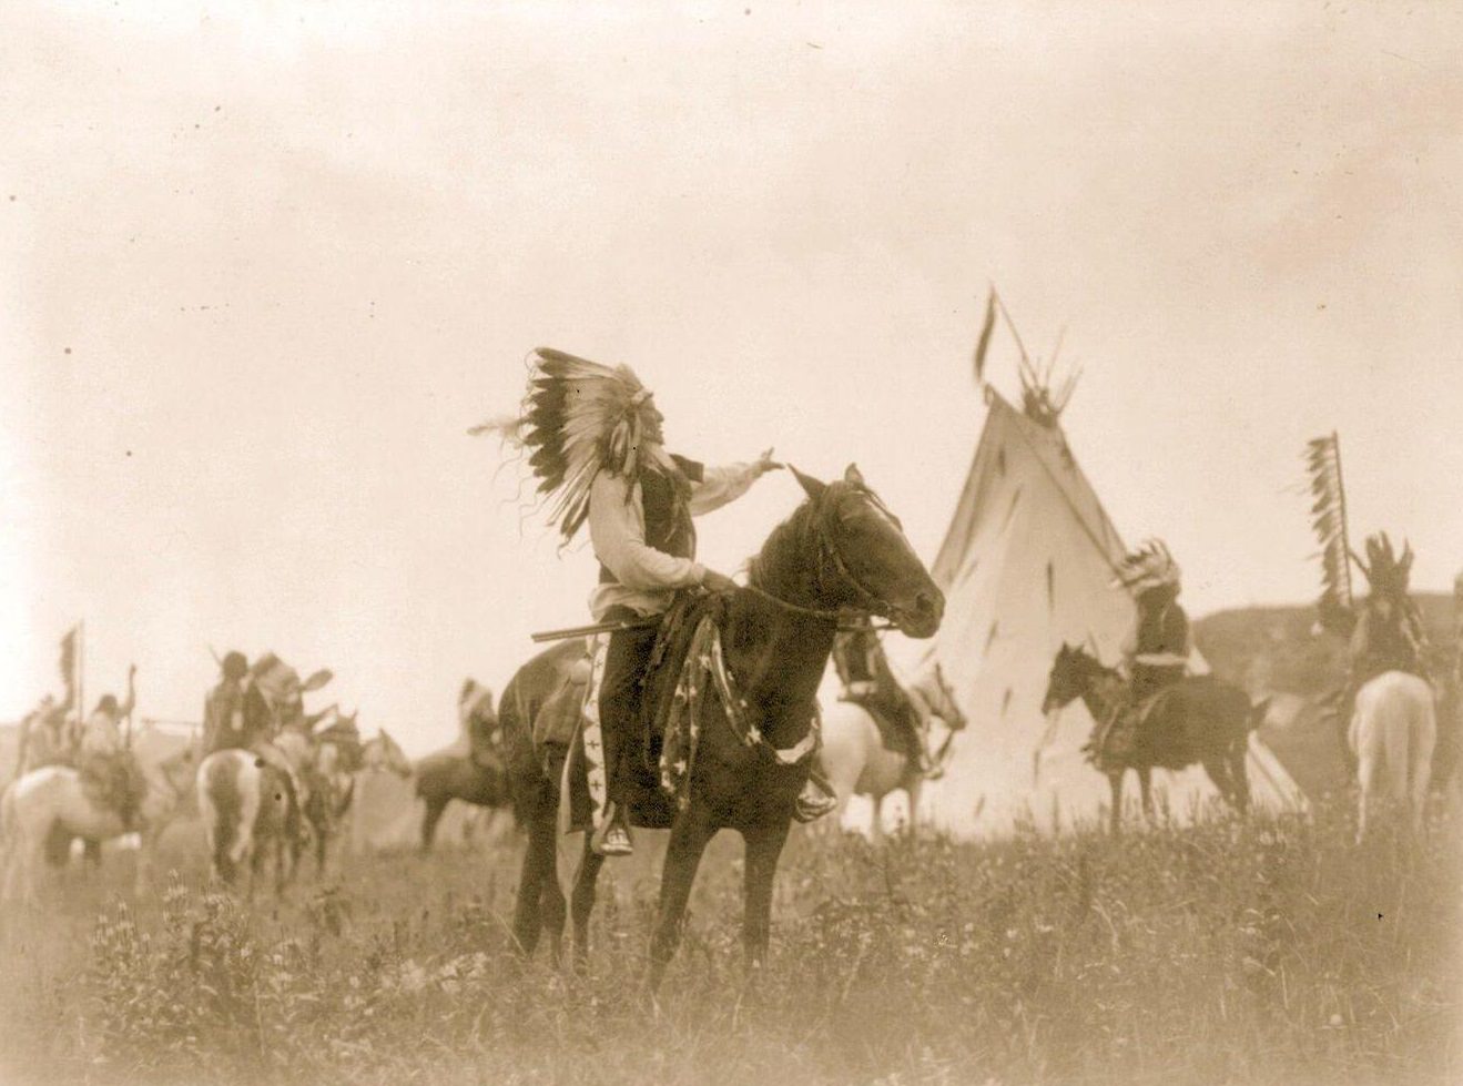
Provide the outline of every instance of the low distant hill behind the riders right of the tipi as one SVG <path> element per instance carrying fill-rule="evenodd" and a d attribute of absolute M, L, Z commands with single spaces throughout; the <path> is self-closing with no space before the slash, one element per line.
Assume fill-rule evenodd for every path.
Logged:
<path fill-rule="evenodd" d="M 1444 675 L 1453 653 L 1453 597 L 1413 596 L 1434 653 L 1434 673 Z M 1238 607 L 1194 623 L 1194 641 L 1216 675 L 1244 686 L 1251 697 L 1270 697 L 1261 739 L 1274 751 L 1312 799 L 1346 786 L 1339 722 L 1318 698 L 1346 679 L 1346 641 L 1312 634 L 1315 606 Z M 1445 780 L 1457 760 L 1457 711 L 1438 720 L 1434 779 Z"/>

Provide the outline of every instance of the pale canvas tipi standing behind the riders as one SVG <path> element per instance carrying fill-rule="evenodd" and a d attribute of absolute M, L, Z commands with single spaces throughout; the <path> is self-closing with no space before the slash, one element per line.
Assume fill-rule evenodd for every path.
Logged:
<path fill-rule="evenodd" d="M 1068 827 L 1100 817 L 1107 780 L 1083 760 L 1091 717 L 1081 703 L 1048 722 L 1042 698 L 1064 640 L 1116 662 L 1134 621 L 1132 600 L 1112 587 L 1124 544 L 1056 414 L 1026 414 L 989 386 L 986 402 L 976 460 L 932 569 L 947 610 L 926 664 L 939 662 L 970 726 L 926 792 L 929 812 L 952 833 L 1002 833 L 1023 820 Z M 1194 669 L 1206 669 L 1197 653 Z M 1181 817 L 1217 802 L 1197 767 L 1159 770 L 1153 782 Z M 1302 802 L 1254 735 L 1249 783 L 1257 804 Z M 1137 792 L 1129 776 L 1125 802 Z"/>

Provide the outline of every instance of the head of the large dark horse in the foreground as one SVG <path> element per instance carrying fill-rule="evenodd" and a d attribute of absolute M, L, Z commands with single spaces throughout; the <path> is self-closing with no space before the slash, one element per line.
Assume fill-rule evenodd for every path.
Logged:
<path fill-rule="evenodd" d="M 898 517 L 859 468 L 850 464 L 832 483 L 796 468 L 793 474 L 812 508 L 821 602 L 888 618 L 909 637 L 933 637 L 945 613 L 945 594 L 904 537 Z"/>

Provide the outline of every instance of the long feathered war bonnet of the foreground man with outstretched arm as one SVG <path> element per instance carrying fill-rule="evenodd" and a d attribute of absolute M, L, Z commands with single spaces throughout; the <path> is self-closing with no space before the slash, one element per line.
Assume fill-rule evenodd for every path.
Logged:
<path fill-rule="evenodd" d="M 497 433 L 531 451 L 538 492 L 552 502 L 549 523 L 569 540 L 590 514 L 594 477 L 603 470 L 635 479 L 658 441 L 650 395 L 629 366 L 601 366 L 540 347 L 521 413 L 468 433 Z"/>

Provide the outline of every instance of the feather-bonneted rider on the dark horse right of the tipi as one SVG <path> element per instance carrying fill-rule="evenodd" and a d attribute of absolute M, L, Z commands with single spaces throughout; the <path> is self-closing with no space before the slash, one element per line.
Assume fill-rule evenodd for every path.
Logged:
<path fill-rule="evenodd" d="M 1128 697 L 1107 720 L 1096 722 L 1087 752 L 1094 761 L 1121 757 L 1159 695 L 1181 682 L 1194 651 L 1188 615 L 1179 606 L 1181 569 L 1162 540 L 1150 539 L 1118 563 L 1115 588 L 1137 604 L 1122 645 Z"/>

